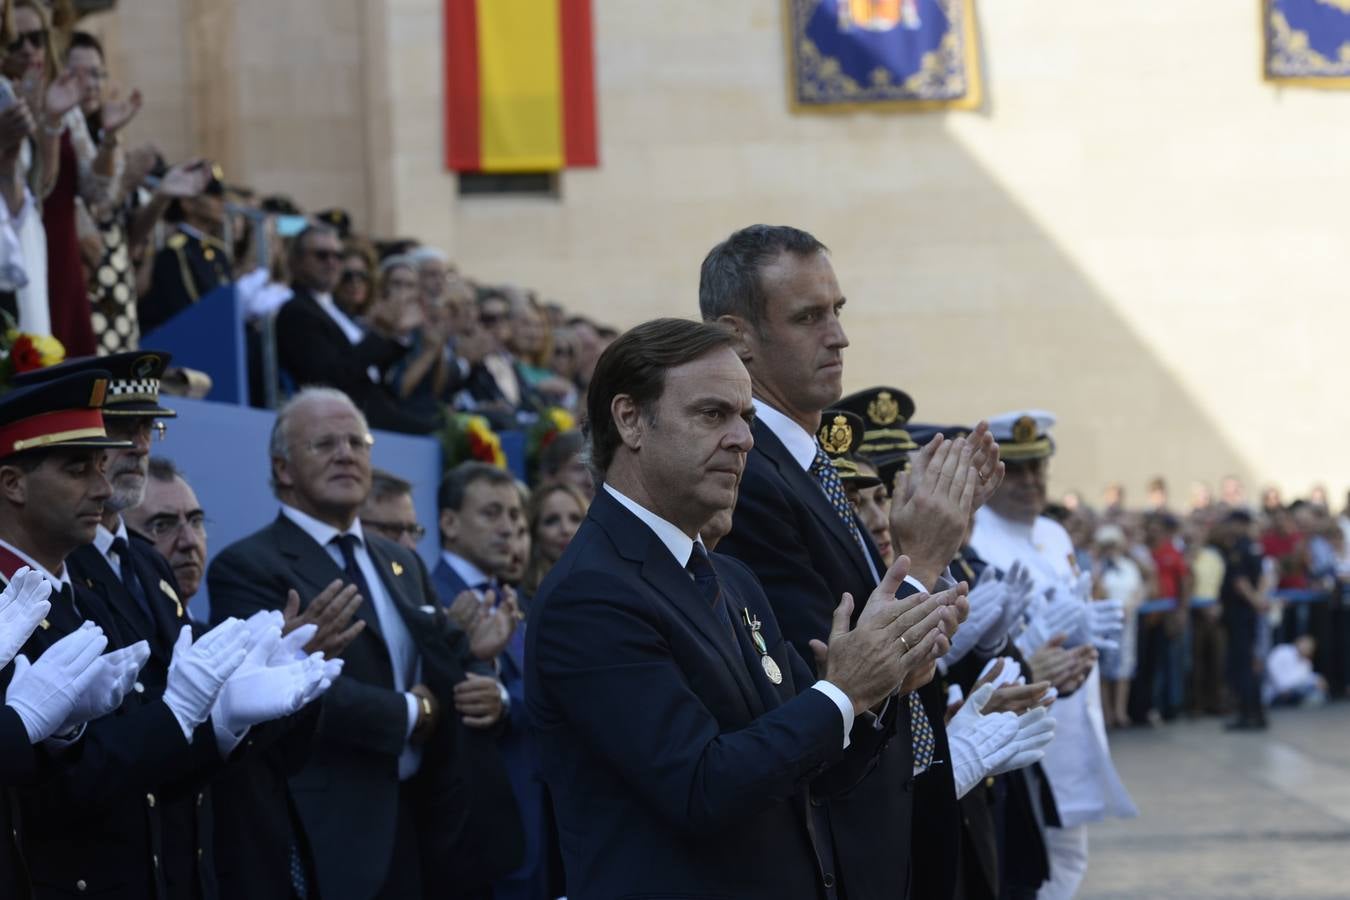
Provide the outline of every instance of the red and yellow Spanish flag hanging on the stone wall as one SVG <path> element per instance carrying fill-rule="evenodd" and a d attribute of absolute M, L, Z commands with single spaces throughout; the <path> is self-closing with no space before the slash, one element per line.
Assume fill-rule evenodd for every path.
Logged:
<path fill-rule="evenodd" d="M 594 166 L 590 0 L 444 0 L 446 166 Z"/>

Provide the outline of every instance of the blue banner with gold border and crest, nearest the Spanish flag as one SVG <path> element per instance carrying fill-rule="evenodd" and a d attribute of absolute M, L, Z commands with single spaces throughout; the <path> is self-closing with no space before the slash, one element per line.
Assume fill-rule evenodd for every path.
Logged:
<path fill-rule="evenodd" d="M 973 0 L 786 0 L 795 109 L 980 105 Z"/>

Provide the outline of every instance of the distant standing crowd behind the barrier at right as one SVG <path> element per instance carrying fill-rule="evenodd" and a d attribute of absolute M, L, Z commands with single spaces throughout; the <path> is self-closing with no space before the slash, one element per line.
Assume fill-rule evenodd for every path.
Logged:
<path fill-rule="evenodd" d="M 1049 514 L 1096 595 L 1126 610 L 1120 650 L 1102 663 L 1108 727 L 1228 714 L 1264 727 L 1266 704 L 1345 695 L 1350 497 L 1339 514 L 1323 487 L 1293 501 L 1266 487 L 1253 503 L 1227 476 L 1218 497 L 1197 483 L 1179 507 L 1156 478 L 1142 509 L 1111 484 L 1096 507 L 1069 493 Z"/>

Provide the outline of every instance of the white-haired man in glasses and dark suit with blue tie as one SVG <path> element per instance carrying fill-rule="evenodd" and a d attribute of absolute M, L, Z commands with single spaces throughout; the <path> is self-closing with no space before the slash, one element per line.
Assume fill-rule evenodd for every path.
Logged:
<path fill-rule="evenodd" d="M 281 514 L 220 553 L 207 575 L 213 617 L 279 609 L 292 588 L 312 596 L 335 579 L 364 598 L 356 615 L 366 627 L 343 654 L 309 761 L 290 780 L 325 900 L 473 887 L 455 869 L 468 839 L 505 855 L 514 842 L 518 851 L 518 823 L 509 819 L 464 834 L 466 796 L 482 772 L 466 769 L 462 727 L 441 715 L 464 677 L 462 638 L 435 607 L 417 556 L 362 530 L 373 443 L 346 394 L 306 389 L 292 398 L 270 445 Z M 502 807 L 500 816 L 513 815 L 509 795 Z"/>

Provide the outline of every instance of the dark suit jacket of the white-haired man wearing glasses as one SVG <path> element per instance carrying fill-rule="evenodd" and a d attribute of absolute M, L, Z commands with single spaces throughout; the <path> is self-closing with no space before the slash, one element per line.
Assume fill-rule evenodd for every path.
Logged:
<path fill-rule="evenodd" d="M 467 729 L 452 714 L 451 700 L 454 684 L 463 680 L 463 637 L 448 627 L 443 614 L 424 609 L 435 603 L 435 594 L 414 553 L 369 532 L 366 541 L 385 590 L 417 646 L 423 683 L 443 708 L 440 727 L 423 746 L 416 784 L 408 785 L 408 793 L 420 803 L 413 814 L 420 824 L 424 882 L 459 885 L 437 880 L 446 877 L 441 866 L 462 862 L 454 858 L 455 850 L 473 837 L 464 828 L 478 772 L 466 770 L 464 758 L 474 739 L 463 734 Z M 247 617 L 261 609 L 281 609 L 290 588 L 308 602 L 342 576 L 324 548 L 278 515 L 212 561 L 212 615 Z M 324 900 L 366 899 L 379 889 L 393 851 L 402 787 L 398 756 L 406 743 L 408 704 L 394 690 L 389 650 L 373 604 L 362 603 L 356 615 L 364 619 L 366 630 L 343 653 L 343 675 L 323 699 L 310 758 L 290 779 Z M 504 800 L 510 807 L 509 799 Z M 509 826 L 504 826 L 506 831 Z M 510 843 L 513 837 L 518 839 L 518 831 L 504 841 Z"/>

